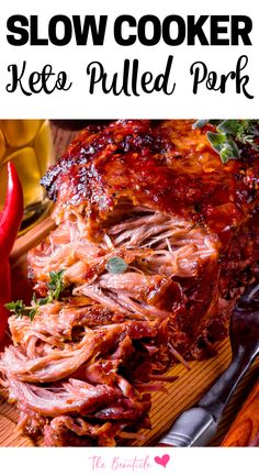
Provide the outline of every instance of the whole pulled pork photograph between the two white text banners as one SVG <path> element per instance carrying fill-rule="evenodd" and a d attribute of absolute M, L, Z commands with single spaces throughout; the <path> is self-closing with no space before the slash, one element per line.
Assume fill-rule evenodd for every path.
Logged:
<path fill-rule="evenodd" d="M 0 121 L 0 446 L 259 446 L 259 120 Z"/>

